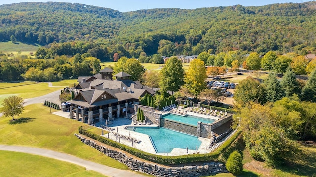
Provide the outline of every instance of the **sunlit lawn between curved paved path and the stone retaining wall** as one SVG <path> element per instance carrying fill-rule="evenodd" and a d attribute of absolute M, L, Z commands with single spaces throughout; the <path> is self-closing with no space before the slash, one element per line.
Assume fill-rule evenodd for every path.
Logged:
<path fill-rule="evenodd" d="M 30 121 L 9 125 L 11 118 L 0 118 L 0 144 L 46 148 L 110 167 L 128 169 L 74 136 L 74 133 L 78 133 L 78 127 L 86 124 L 51 114 L 49 108 L 41 104 L 26 106 L 23 114 L 15 118 L 22 117 L 30 118 Z"/>

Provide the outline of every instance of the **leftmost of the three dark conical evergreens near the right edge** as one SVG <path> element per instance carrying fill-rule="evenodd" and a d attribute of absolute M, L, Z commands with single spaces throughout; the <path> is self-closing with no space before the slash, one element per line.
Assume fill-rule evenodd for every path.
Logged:
<path fill-rule="evenodd" d="M 266 99 L 270 102 L 276 102 L 284 96 L 280 82 L 276 79 L 276 75 L 270 73 L 266 80 Z"/>

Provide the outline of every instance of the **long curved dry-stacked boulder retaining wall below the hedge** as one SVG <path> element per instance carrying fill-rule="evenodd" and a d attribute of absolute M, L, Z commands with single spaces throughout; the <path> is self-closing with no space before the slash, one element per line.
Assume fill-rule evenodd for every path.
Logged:
<path fill-rule="evenodd" d="M 125 153 L 117 152 L 104 146 L 100 146 L 96 143 L 96 141 L 86 139 L 85 137 L 81 136 L 81 134 L 75 135 L 81 140 L 81 142 L 127 165 L 131 170 L 154 175 L 156 177 L 199 177 L 217 173 L 228 173 L 225 165 L 219 162 L 207 162 L 200 166 L 186 165 L 181 167 L 164 167 L 159 164 L 146 163 L 141 160 L 134 160 L 132 157 L 128 157 Z"/>

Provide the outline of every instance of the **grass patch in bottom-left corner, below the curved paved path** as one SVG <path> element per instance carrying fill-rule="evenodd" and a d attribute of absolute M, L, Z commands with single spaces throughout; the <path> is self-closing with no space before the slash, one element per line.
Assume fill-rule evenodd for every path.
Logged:
<path fill-rule="evenodd" d="M 0 151 L 0 177 L 105 177 L 84 167 L 52 158 Z"/>

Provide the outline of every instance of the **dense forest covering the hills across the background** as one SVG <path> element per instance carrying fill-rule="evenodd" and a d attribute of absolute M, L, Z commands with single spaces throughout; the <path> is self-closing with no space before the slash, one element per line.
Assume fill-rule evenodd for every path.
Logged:
<path fill-rule="evenodd" d="M 0 41 L 55 47 L 38 58 L 89 50 L 101 60 L 231 50 L 304 55 L 316 47 L 316 1 L 125 13 L 78 3 L 28 2 L 1 5 L 0 22 Z M 62 45 L 79 48 L 56 52 Z"/>

